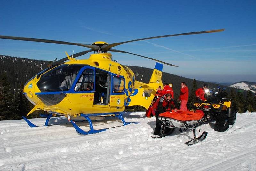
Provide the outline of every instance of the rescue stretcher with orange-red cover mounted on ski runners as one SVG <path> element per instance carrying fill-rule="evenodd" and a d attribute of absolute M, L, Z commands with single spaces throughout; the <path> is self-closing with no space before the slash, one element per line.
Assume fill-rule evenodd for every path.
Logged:
<path fill-rule="evenodd" d="M 160 129 L 160 136 L 167 135 L 166 128 L 171 128 L 173 131 L 175 128 L 184 128 L 182 132 L 187 131 L 188 129 L 193 130 L 194 139 L 186 142 L 187 145 L 192 145 L 195 143 L 198 143 L 200 141 L 203 141 L 206 136 L 207 132 L 203 132 L 201 136 L 196 137 L 196 131 L 195 128 L 198 126 L 201 126 L 202 123 L 205 121 L 204 112 L 201 110 L 193 111 L 180 111 L 177 112 L 164 112 L 159 114 L 158 119 L 161 123 L 161 129 Z M 173 132 L 171 131 L 171 133 Z M 169 131 L 170 134 L 170 131 Z"/>

